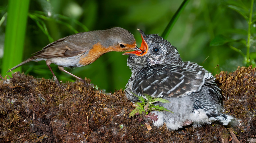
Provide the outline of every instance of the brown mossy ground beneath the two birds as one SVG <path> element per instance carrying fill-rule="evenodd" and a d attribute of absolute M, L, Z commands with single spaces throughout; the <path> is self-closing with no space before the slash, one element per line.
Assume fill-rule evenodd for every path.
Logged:
<path fill-rule="evenodd" d="M 129 118 L 135 107 L 123 90 L 105 94 L 82 82 L 59 88 L 52 80 L 15 72 L 0 81 L 0 142 L 256 142 L 255 70 L 216 75 L 224 112 L 238 119 L 231 128 L 213 123 L 178 131 Z"/>

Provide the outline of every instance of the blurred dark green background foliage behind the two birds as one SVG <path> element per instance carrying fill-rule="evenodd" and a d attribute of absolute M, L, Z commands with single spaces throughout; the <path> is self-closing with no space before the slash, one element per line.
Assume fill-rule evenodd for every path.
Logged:
<path fill-rule="evenodd" d="M 3 63 L 5 54 L 5 32 L 9 16 L 6 13 L 9 2 L 10 0 L 0 2 L 2 18 L 0 21 L 0 63 Z M 14 32 L 25 30 L 24 49 L 22 49 L 23 44 L 16 47 L 21 49 L 19 55 L 22 60 L 26 60 L 32 53 L 41 50 L 52 40 L 55 41 L 72 35 L 76 31 L 84 32 L 87 28 L 89 30 L 112 27 L 125 28 L 135 36 L 139 47 L 141 38 L 136 28 L 142 29 L 146 34 L 159 33 L 161 35 L 182 1 L 30 0 L 28 3 L 29 17 L 27 18 L 27 24 L 25 23 L 26 25 L 23 28 L 14 30 Z M 237 8 L 238 10 L 236 10 L 236 8 L 231 7 L 232 4 L 238 5 L 237 7 L 241 6 L 242 9 Z M 254 8 L 252 19 L 255 19 L 255 4 L 252 6 Z M 246 55 L 245 44 L 248 38 L 248 20 L 246 21 L 239 10 L 248 16 L 250 8 L 251 0 L 190 0 L 166 39 L 178 48 L 183 61 L 197 62 L 213 74 L 220 71 L 234 71 L 238 66 L 246 65 L 246 61 L 244 56 L 232 50 L 228 44 L 232 42 L 232 46 Z M 22 20 L 26 21 L 26 19 Z M 84 24 L 84 26 L 78 22 Z M 249 47 L 253 55 L 256 51 L 255 21 L 251 24 Z M 217 39 L 221 42 L 216 44 L 216 37 L 220 35 L 228 38 Z M 210 46 L 213 40 L 215 40 L 215 44 Z M 256 58 L 256 56 L 253 58 Z M 10 58 L 10 60 L 13 60 L 15 65 L 21 62 L 18 57 L 16 59 L 16 56 Z M 126 60 L 127 56 L 122 56 L 122 53 L 110 52 L 101 56 L 91 65 L 65 69 L 81 78 L 90 78 L 91 82 L 101 89 L 114 92 L 115 89 L 124 89 L 131 76 Z M 11 69 L 15 65 L 10 65 L 9 68 Z M 75 81 L 74 77 L 59 71 L 56 65 L 52 64 L 51 67 L 60 81 Z M 2 76 L 5 76 L 7 70 L 4 69 L 3 71 L 2 64 L 0 69 L 2 70 Z M 52 73 L 46 66 L 45 61 L 29 62 L 18 70 L 37 78 L 52 78 Z"/>

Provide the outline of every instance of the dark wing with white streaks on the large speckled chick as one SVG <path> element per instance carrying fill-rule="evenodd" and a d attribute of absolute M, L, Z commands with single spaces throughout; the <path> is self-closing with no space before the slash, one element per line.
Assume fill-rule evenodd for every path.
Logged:
<path fill-rule="evenodd" d="M 183 97 L 199 91 L 205 79 L 212 77 L 205 69 L 188 69 L 173 64 L 155 65 L 138 73 L 133 91 L 152 97 Z"/>

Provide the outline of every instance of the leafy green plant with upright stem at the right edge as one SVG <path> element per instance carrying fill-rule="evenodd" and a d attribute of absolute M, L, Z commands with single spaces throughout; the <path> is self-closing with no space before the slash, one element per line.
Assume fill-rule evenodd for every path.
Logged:
<path fill-rule="evenodd" d="M 247 31 L 247 40 L 244 38 L 242 39 L 232 39 L 229 37 L 226 37 L 224 35 L 217 35 L 215 39 L 213 39 L 210 43 L 210 46 L 223 46 L 227 45 L 227 47 L 230 47 L 232 50 L 238 52 L 240 55 L 244 57 L 244 63 L 246 66 L 252 65 L 255 67 L 255 60 L 256 60 L 256 52 L 250 52 L 250 47 L 252 46 L 251 43 L 253 40 L 255 40 L 255 32 L 252 31 L 252 24 L 254 24 L 255 27 L 255 22 L 256 22 L 256 13 L 253 12 L 253 5 L 254 5 L 254 0 L 250 0 L 250 5 L 245 5 L 244 1 L 234 1 L 230 0 L 227 1 L 227 7 L 236 11 L 239 13 L 247 22 L 248 24 L 248 31 Z M 242 52 L 241 49 L 233 46 L 234 42 L 241 43 L 246 47 L 246 54 Z"/>

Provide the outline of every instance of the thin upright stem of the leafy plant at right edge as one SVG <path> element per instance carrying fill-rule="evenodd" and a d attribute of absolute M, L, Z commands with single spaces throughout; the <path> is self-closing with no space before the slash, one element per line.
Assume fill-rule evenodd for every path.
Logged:
<path fill-rule="evenodd" d="M 253 11 L 253 3 L 254 0 L 251 0 L 251 9 L 250 9 L 250 16 L 249 16 L 249 21 L 248 21 L 248 38 L 247 38 L 247 54 L 246 54 L 246 63 L 250 63 L 250 39 L 251 39 L 251 24 L 252 24 L 252 11 Z"/>

